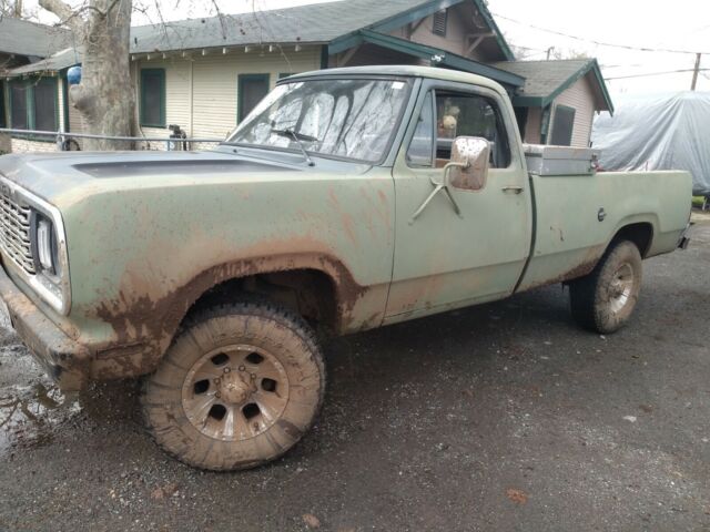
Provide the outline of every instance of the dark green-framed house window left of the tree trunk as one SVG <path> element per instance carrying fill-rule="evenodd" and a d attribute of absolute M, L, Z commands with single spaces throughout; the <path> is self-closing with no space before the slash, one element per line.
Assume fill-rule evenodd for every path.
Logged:
<path fill-rule="evenodd" d="M 10 83 L 10 126 L 14 130 L 57 131 L 57 80 Z"/>

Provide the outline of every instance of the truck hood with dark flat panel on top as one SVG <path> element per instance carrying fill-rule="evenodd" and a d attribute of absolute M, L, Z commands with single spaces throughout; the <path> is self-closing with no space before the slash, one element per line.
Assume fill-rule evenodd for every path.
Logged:
<path fill-rule="evenodd" d="M 254 180 L 300 173 L 302 164 L 213 152 L 58 152 L 0 156 L 0 175 L 57 206 L 61 197 L 185 180 Z M 313 170 L 313 168 L 308 168 Z M 72 194 L 75 192 L 77 194 Z"/>

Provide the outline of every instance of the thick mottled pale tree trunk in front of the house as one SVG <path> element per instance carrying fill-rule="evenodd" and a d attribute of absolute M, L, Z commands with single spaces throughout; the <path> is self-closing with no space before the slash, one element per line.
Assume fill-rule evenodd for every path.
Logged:
<path fill-rule="evenodd" d="M 83 47 L 81 83 L 69 90 L 87 133 L 129 136 L 135 98 L 131 83 L 129 41 L 132 0 L 89 0 L 70 8 L 62 0 L 40 0 L 80 38 Z M 84 139 L 84 150 L 126 150 L 125 141 Z"/>

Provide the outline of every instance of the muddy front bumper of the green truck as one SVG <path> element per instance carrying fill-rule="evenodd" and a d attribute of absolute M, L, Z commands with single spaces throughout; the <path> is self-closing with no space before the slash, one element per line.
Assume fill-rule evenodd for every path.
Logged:
<path fill-rule="evenodd" d="M 0 297 L 8 307 L 12 327 L 60 389 L 75 391 L 83 388 L 90 375 L 89 349 L 69 338 L 44 316 L 1 266 Z"/>

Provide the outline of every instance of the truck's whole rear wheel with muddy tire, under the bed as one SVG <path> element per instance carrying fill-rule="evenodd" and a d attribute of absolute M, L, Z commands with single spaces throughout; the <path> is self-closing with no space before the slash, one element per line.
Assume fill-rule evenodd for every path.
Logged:
<path fill-rule="evenodd" d="M 636 244 L 612 244 L 587 276 L 569 285 L 572 317 L 586 329 L 601 334 L 623 327 L 641 289 L 641 254 Z"/>

